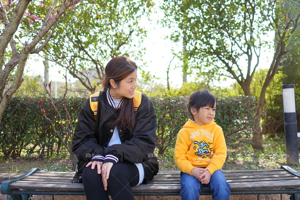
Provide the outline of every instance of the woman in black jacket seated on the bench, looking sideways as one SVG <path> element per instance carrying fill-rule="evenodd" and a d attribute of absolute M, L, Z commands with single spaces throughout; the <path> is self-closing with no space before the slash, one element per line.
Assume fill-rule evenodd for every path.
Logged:
<path fill-rule="evenodd" d="M 149 182 L 158 172 L 153 157 L 156 116 L 145 94 L 134 111 L 137 68 L 128 57 L 111 59 L 105 67 L 97 117 L 90 100 L 79 114 L 72 140 L 79 169 L 79 176 L 74 178 L 81 178 L 80 166 L 84 166 L 82 181 L 87 200 L 108 199 L 108 188 L 113 199 L 133 199 L 130 187 Z"/>

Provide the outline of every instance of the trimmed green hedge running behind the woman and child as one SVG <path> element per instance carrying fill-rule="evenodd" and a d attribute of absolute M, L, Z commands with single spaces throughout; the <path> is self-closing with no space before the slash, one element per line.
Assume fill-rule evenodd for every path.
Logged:
<path fill-rule="evenodd" d="M 24 155 L 44 157 L 64 150 L 49 122 L 40 113 L 38 100 L 38 98 L 13 97 L 9 101 L 0 124 L 1 154 L 5 158 Z M 85 100 L 77 97 L 67 99 L 67 108 L 74 127 Z M 153 97 L 150 100 L 153 102 L 158 119 L 158 153 L 163 154 L 167 147 L 175 145 L 178 131 L 189 118 L 186 101 L 184 97 Z M 62 98 L 56 101 L 56 106 L 64 118 Z M 250 142 L 254 102 L 252 97 L 244 96 L 217 99 L 215 120 L 223 128 L 229 148 Z M 54 120 L 57 117 L 55 111 L 50 109 L 49 99 L 43 99 L 42 108 L 46 110 L 46 115 L 50 119 Z M 59 126 L 58 122 L 54 122 L 54 125 Z"/>

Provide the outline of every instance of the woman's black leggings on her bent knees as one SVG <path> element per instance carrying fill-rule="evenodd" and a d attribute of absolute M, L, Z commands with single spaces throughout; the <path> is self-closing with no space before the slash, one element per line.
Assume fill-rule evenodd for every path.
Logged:
<path fill-rule="evenodd" d="M 108 200 L 108 195 L 103 188 L 102 176 L 97 173 L 97 165 L 84 168 L 82 174 L 83 187 L 87 200 Z M 133 200 L 131 186 L 139 181 L 138 168 L 134 163 L 120 162 L 113 165 L 107 180 L 108 190 L 113 200 Z"/>

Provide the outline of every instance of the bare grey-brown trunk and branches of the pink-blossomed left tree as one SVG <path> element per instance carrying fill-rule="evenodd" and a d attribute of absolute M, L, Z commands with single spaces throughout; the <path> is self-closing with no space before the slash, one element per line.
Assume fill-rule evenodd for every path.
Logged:
<path fill-rule="evenodd" d="M 17 3 L 16 8 L 14 9 L 12 13 L 12 17 L 10 18 L 10 21 L 8 22 L 8 19 L 6 18 L 6 21 L 8 24 L 6 25 L 4 31 L 1 34 L 0 37 L 0 68 L 1 68 L 1 74 L 0 74 L 0 122 L 1 118 L 4 114 L 5 108 L 8 104 L 8 101 L 11 99 L 12 95 L 15 93 L 15 91 L 20 87 L 22 81 L 23 81 L 23 72 L 24 67 L 28 58 L 29 54 L 32 53 L 38 53 L 40 52 L 48 43 L 51 36 L 54 33 L 57 21 L 63 16 L 64 12 L 73 4 L 76 4 L 79 2 L 79 0 L 73 0 L 73 1 L 65 1 L 62 7 L 59 9 L 59 12 L 56 13 L 55 17 L 50 19 L 49 22 L 47 22 L 47 25 L 43 27 L 38 34 L 34 37 L 31 43 L 28 43 L 24 45 L 20 53 L 17 53 L 17 49 L 14 45 L 13 41 L 13 35 L 17 31 L 17 28 L 20 25 L 21 20 L 23 19 L 24 13 L 26 12 L 26 9 L 28 7 L 28 4 L 31 2 L 31 0 L 20 0 Z M 4 15 L 4 14 L 3 14 Z M 3 16 L 2 16 L 3 17 Z M 37 49 L 34 49 L 35 46 L 42 40 L 42 38 L 51 30 L 52 32 L 47 36 L 45 41 L 40 45 Z M 5 49 L 8 47 L 8 43 L 11 41 L 11 47 L 12 51 L 15 51 L 13 54 L 12 59 L 7 63 L 7 66 L 2 70 L 3 66 L 3 60 L 4 60 L 4 54 Z M 16 63 L 17 62 L 17 63 Z M 7 77 L 9 73 L 12 71 L 12 69 L 17 65 L 18 69 L 15 74 L 14 81 L 12 85 L 6 90 L 3 94 L 5 83 L 7 80 Z M 3 79 L 4 77 L 4 79 Z M 5 78 L 6 77 L 6 78 Z"/>

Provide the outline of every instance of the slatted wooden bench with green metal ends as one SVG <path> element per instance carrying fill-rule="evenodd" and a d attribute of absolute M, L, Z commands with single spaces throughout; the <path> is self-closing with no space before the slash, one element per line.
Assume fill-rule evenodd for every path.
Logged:
<path fill-rule="evenodd" d="M 223 172 L 231 185 L 231 195 L 290 194 L 291 199 L 299 200 L 300 174 L 288 166 Z M 46 172 L 32 168 L 18 178 L 3 181 L 1 193 L 9 195 L 9 200 L 29 200 L 30 195 L 85 195 L 82 183 L 71 183 L 73 175 L 74 172 Z M 179 195 L 179 180 L 179 171 L 162 171 L 148 184 L 132 187 L 132 191 L 136 196 Z M 211 195 L 211 192 L 204 187 L 201 195 Z"/>

